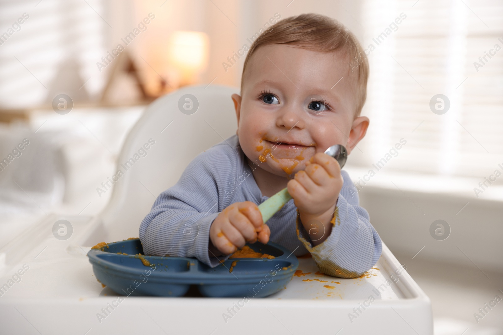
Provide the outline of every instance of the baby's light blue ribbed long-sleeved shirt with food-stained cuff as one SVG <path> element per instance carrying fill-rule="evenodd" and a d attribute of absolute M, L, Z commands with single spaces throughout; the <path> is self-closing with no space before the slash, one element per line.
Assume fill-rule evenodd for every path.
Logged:
<path fill-rule="evenodd" d="M 296 256 L 309 251 L 323 273 L 358 277 L 376 264 L 382 245 L 368 212 L 359 206 L 358 193 L 348 173 L 342 170 L 342 175 L 344 184 L 334 212 L 335 223 L 323 243 L 312 246 L 293 199 L 267 225 L 270 241 Z M 234 202 L 259 205 L 268 198 L 262 195 L 238 137 L 233 135 L 196 156 L 179 181 L 157 197 L 140 225 L 143 251 L 145 255 L 196 257 L 215 267 L 229 256 L 214 257 L 208 250 L 213 220 Z"/>

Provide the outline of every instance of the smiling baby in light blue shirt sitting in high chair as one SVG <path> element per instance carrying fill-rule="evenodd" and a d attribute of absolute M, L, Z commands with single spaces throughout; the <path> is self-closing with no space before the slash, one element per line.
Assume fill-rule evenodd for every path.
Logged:
<path fill-rule="evenodd" d="M 197 257 L 210 267 L 246 243 L 311 254 L 320 271 L 361 276 L 382 245 L 348 173 L 324 151 L 348 153 L 365 136 L 369 73 L 343 25 L 303 14 L 279 21 L 250 47 L 236 135 L 200 153 L 140 225 L 147 255 Z M 293 199 L 262 220 L 258 204 L 287 187 Z"/>

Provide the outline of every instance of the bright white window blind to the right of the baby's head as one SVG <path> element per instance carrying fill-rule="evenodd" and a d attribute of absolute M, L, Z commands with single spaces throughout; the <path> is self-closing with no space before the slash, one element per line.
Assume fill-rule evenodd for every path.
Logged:
<path fill-rule="evenodd" d="M 370 64 L 362 115 L 371 121 L 353 163 L 391 156 L 386 168 L 401 171 L 503 172 L 503 2 L 366 0 L 360 23 Z M 437 94 L 450 104 L 440 114 L 430 107 Z"/>

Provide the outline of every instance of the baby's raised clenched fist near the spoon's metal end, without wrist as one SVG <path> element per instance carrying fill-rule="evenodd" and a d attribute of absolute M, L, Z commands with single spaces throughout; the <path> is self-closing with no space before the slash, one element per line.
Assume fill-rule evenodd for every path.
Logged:
<path fill-rule="evenodd" d="M 335 209 L 343 183 L 337 160 L 319 152 L 295 174 L 287 188 L 299 212 L 314 217 Z"/>

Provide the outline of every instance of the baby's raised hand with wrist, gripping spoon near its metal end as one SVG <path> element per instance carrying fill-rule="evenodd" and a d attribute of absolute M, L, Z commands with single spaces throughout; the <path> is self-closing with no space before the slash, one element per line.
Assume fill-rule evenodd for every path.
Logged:
<path fill-rule="evenodd" d="M 323 242 L 330 234 L 329 222 L 343 183 L 341 166 L 337 160 L 319 152 L 307 162 L 305 170 L 297 172 L 295 178 L 287 184 L 288 193 L 299 209 L 302 225 L 309 231 L 315 245 Z M 323 227 L 311 222 L 319 222 Z"/>

